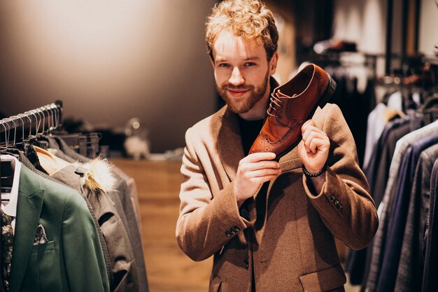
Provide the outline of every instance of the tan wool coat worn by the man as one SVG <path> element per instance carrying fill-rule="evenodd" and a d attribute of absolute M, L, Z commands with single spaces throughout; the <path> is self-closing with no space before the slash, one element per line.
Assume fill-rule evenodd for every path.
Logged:
<path fill-rule="evenodd" d="M 222 108 L 185 135 L 176 238 L 193 260 L 214 256 L 211 292 L 344 291 L 346 277 L 334 237 L 362 249 L 379 221 L 355 142 L 338 106 L 312 120 L 330 138 L 325 184 L 308 187 L 296 148 L 281 158 L 282 173 L 239 214 L 233 181 L 243 147 L 236 115 Z"/>

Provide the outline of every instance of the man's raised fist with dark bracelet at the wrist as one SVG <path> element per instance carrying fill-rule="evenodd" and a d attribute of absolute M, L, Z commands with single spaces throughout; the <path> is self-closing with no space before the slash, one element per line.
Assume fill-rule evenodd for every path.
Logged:
<path fill-rule="evenodd" d="M 325 132 L 319 130 L 313 120 L 308 120 L 301 128 L 302 141 L 297 146 L 298 157 L 311 174 L 320 172 L 330 151 L 330 139 Z M 311 177 L 316 193 L 320 193 L 325 182 L 325 175 Z"/>

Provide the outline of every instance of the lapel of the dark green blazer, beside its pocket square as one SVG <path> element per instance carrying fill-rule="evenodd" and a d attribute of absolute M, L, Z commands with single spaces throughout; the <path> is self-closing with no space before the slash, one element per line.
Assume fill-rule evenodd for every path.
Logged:
<path fill-rule="evenodd" d="M 22 165 L 10 267 L 10 292 L 20 291 L 34 246 L 36 228 L 43 207 L 43 193 L 44 190 L 39 187 L 38 175 Z"/>

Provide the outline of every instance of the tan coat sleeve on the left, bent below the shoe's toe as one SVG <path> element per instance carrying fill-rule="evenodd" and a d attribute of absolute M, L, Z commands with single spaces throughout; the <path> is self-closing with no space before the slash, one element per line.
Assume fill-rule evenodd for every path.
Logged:
<path fill-rule="evenodd" d="M 213 197 L 191 141 L 191 131 L 192 128 L 185 134 L 186 147 L 181 166 L 184 182 L 180 191 L 176 239 L 192 260 L 204 260 L 242 232 L 248 221 L 239 214 L 233 183 L 229 183 Z"/>

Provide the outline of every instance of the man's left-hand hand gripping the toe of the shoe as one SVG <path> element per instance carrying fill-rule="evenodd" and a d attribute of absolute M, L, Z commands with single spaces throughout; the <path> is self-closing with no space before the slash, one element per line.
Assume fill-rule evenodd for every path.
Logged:
<path fill-rule="evenodd" d="M 260 185 L 281 174 L 280 164 L 273 161 L 275 153 L 252 153 L 239 162 L 234 194 L 239 208 L 248 197 L 255 195 Z"/>

